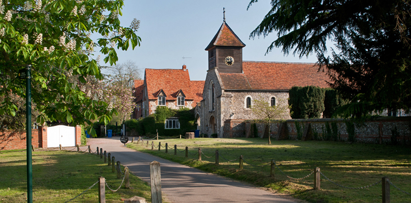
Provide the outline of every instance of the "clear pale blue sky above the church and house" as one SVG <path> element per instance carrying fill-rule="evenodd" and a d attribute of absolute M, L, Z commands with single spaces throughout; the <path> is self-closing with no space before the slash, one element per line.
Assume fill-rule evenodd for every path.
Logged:
<path fill-rule="evenodd" d="M 250 39 L 250 33 L 270 10 L 270 0 L 260 0 L 247 11 L 249 3 L 250 0 L 125 0 L 123 15 L 119 16 L 121 25 L 128 27 L 134 18 L 140 20 L 136 35 L 142 41 L 134 50 L 131 47 L 127 51 L 117 50 L 117 63 L 133 61 L 141 69 L 142 78 L 145 69 L 181 69 L 185 64 L 191 80 L 205 80 L 208 52 L 204 49 L 223 23 L 223 8 L 226 23 L 246 44 L 243 60 L 317 61 L 315 55 L 301 59 L 293 54 L 285 56 L 281 48 L 265 54 L 267 47 L 277 39 L 277 33 L 254 40 Z M 102 63 L 100 65 L 109 65 Z"/>

